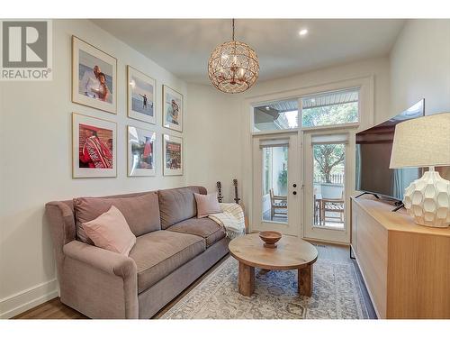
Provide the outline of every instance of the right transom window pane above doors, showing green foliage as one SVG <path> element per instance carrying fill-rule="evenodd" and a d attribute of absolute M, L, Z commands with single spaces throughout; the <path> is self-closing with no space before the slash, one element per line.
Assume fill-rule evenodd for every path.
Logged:
<path fill-rule="evenodd" d="M 305 96 L 302 98 L 302 126 L 357 122 L 358 109 L 358 88 Z"/>

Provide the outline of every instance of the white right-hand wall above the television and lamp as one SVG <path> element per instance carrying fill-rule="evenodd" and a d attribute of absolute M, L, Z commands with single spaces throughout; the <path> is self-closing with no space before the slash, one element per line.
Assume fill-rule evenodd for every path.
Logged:
<path fill-rule="evenodd" d="M 450 112 L 450 20 L 409 20 L 391 51 L 391 115 L 425 98 L 426 114 Z"/>

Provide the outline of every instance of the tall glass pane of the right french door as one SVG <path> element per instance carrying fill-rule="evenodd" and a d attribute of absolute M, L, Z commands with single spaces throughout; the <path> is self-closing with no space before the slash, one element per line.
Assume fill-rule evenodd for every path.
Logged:
<path fill-rule="evenodd" d="M 314 226 L 344 230 L 346 148 L 344 144 L 313 144 Z"/>

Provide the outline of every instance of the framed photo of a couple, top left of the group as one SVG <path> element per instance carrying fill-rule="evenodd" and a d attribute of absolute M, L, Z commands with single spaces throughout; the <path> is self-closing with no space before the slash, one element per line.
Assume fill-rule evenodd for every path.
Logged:
<path fill-rule="evenodd" d="M 116 114 L 117 59 L 72 36 L 72 101 Z"/>

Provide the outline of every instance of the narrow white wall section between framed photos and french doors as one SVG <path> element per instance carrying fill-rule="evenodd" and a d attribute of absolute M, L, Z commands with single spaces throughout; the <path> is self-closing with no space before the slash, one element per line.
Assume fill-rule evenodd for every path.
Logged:
<path fill-rule="evenodd" d="M 234 198 L 233 178 L 241 181 L 241 131 L 238 96 L 221 93 L 211 85 L 188 84 L 189 119 L 185 160 L 187 184 L 202 185 L 216 191 L 222 184 L 224 202 Z M 239 187 L 239 194 L 240 194 Z"/>

